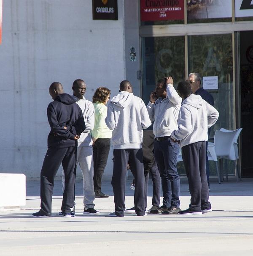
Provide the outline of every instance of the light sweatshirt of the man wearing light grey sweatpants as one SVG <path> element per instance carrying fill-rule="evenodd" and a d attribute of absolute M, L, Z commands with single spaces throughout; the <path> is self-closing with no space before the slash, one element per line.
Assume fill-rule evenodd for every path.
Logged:
<path fill-rule="evenodd" d="M 78 106 L 81 108 L 83 112 L 83 118 L 85 122 L 85 130 L 82 132 L 80 138 L 78 139 L 78 147 L 92 147 L 92 136 L 91 131 L 94 128 L 94 106 L 92 102 L 83 99 L 78 99 Z"/>

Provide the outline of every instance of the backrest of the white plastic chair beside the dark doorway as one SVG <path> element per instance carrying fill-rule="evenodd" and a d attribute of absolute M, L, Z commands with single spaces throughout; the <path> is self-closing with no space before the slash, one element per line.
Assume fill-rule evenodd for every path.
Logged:
<path fill-rule="evenodd" d="M 236 160 L 237 155 L 234 150 L 235 138 L 239 135 L 238 131 L 223 132 L 217 130 L 214 135 L 214 145 L 217 157 L 224 157 L 230 160 Z"/>

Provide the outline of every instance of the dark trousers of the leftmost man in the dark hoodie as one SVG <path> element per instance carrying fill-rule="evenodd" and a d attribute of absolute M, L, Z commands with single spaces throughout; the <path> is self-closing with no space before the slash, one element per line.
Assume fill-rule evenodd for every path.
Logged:
<path fill-rule="evenodd" d="M 49 148 L 40 173 L 40 207 L 46 214 L 52 211 L 54 177 L 62 164 L 65 175 L 65 189 L 62 198 L 62 212 L 70 212 L 75 201 L 76 147 Z"/>

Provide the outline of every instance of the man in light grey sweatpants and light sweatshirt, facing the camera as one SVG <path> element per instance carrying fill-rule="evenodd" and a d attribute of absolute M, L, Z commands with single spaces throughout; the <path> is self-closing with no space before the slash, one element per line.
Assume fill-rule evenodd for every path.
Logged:
<path fill-rule="evenodd" d="M 77 100 L 76 103 L 83 112 L 83 118 L 86 125 L 85 130 L 78 139 L 77 147 L 77 163 L 79 163 L 83 175 L 83 214 L 94 215 L 100 213 L 94 209 L 95 204 L 93 203 L 95 199 L 95 192 L 93 184 L 94 167 L 91 131 L 94 128 L 94 106 L 92 102 L 84 98 L 86 83 L 83 80 L 75 80 L 73 82 L 72 89 L 73 96 L 75 96 Z M 64 187 L 64 173 L 62 173 L 62 181 Z M 75 206 L 72 208 L 73 212 L 74 209 Z"/>

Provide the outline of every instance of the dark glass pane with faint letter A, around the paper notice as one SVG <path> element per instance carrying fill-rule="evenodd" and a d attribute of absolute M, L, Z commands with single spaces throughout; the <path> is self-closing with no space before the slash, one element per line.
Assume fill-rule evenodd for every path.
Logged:
<path fill-rule="evenodd" d="M 218 76 L 218 90 L 209 92 L 220 116 L 210 137 L 217 129 L 234 129 L 232 34 L 188 36 L 188 70 L 202 77 Z"/>

